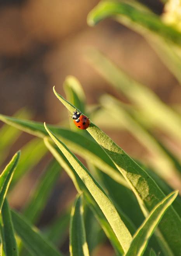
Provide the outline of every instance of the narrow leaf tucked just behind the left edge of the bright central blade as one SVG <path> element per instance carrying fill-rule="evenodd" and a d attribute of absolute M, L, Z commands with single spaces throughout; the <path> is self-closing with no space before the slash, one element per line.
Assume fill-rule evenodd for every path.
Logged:
<path fill-rule="evenodd" d="M 118 255 L 122 255 L 123 249 L 120 246 L 120 243 L 118 242 L 118 239 L 113 232 L 113 229 L 111 228 L 109 222 L 107 221 L 106 217 L 104 216 L 103 212 L 101 211 L 99 205 L 97 204 L 96 200 L 94 197 L 92 197 L 91 193 L 85 186 L 84 182 L 80 177 L 78 176 L 77 172 L 75 169 L 70 165 L 66 157 L 64 157 L 63 153 L 57 148 L 56 146 L 53 146 L 50 144 L 48 138 L 44 138 L 45 145 L 47 148 L 50 150 L 52 155 L 57 159 L 59 164 L 63 167 L 63 169 L 67 172 L 67 174 L 70 176 L 72 179 L 75 188 L 77 189 L 78 193 L 84 192 L 85 195 L 85 200 L 87 205 L 91 208 L 93 211 L 94 215 L 96 216 L 97 221 L 103 228 L 104 232 L 106 233 L 108 239 L 110 239 L 110 242 L 112 246 L 114 247 L 116 253 Z"/>

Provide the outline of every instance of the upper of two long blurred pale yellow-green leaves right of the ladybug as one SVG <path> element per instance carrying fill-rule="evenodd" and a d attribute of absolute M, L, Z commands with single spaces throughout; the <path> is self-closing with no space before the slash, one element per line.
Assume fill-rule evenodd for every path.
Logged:
<path fill-rule="evenodd" d="M 137 106 L 139 113 L 147 122 L 168 132 L 176 141 L 181 141 L 181 117 L 163 103 L 154 92 L 129 77 L 96 49 L 90 51 L 87 61 L 106 81 L 123 92 Z"/>

